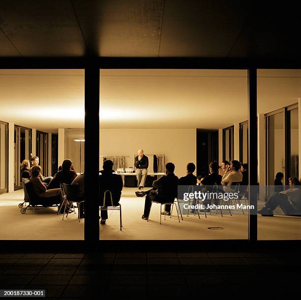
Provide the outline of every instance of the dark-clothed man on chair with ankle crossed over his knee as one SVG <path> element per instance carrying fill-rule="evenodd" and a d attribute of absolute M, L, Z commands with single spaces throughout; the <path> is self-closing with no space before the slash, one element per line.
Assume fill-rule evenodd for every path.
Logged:
<path fill-rule="evenodd" d="M 146 192 L 136 192 L 137 197 L 143 197 L 146 195 L 144 203 L 144 213 L 142 215 L 143 220 L 148 220 L 151 201 L 159 203 L 171 203 L 174 202 L 178 196 L 178 183 L 179 178 L 175 175 L 175 165 L 173 163 L 167 163 L 165 165 L 165 176 L 160 177 L 152 183 L 153 188 Z M 170 215 L 171 205 L 165 205 L 165 210 L 162 214 Z"/>

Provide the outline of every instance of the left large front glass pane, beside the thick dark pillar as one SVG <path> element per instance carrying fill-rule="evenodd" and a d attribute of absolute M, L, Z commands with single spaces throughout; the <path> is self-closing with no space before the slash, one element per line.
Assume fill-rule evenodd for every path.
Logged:
<path fill-rule="evenodd" d="M 51 166 L 53 161 L 56 164 L 54 170 L 58 170 L 58 157 L 60 157 L 59 166 L 64 159 L 69 158 L 65 153 L 65 128 L 84 129 L 84 70 L 0 70 L 0 86 L 2 98 L 5 99 L 0 101 L 1 115 L 5 116 L 4 120 L 15 124 L 11 131 L 14 136 L 11 136 L 10 141 L 11 154 L 14 157 L 11 164 L 9 162 L 9 167 L 6 167 L 8 151 L 5 150 L 5 127 L 2 125 L 4 122 L 0 120 L 0 193 L 2 188 L 7 186 L 5 178 L 12 183 L 9 185 L 10 192 L 6 193 L 8 192 L 6 189 L 0 195 L 0 207 L 4 212 L 1 214 L 0 239 L 83 240 L 85 220 L 83 218 L 80 222 L 78 220 L 79 206 L 74 203 L 73 208 L 67 204 L 65 210 L 66 201 L 60 190 L 60 183 L 73 182 L 79 169 L 75 172 L 67 172 L 69 171 L 67 169 L 66 173 L 70 176 L 58 176 L 59 179 L 49 186 L 52 178 L 49 176 L 51 168 L 48 166 Z M 21 105 L 21 102 L 26 104 Z M 34 115 L 25 116 L 24 107 L 35 107 Z M 33 140 L 31 140 L 31 133 L 33 133 Z M 60 135 L 60 141 L 56 139 L 53 156 L 51 147 L 48 149 L 49 133 L 54 136 L 58 133 Z M 32 156 L 39 157 L 41 175 L 44 178 L 34 173 L 30 178 L 31 184 L 26 182 L 23 185 L 20 180 L 20 163 L 22 160 L 30 159 L 30 153 Z M 11 172 L 8 173 L 8 170 Z M 29 175 L 27 170 L 24 170 L 24 175 Z M 43 182 L 41 183 L 39 179 L 43 179 Z M 15 184 L 15 191 L 11 191 L 11 188 L 12 190 L 14 188 L 13 184 Z M 48 184 L 48 188 L 46 189 L 43 184 Z M 35 193 L 36 190 L 39 193 Z M 66 218 L 66 213 L 63 212 L 68 211 L 68 206 L 72 213 L 69 213 Z M 60 208 L 61 213 L 58 215 Z M 83 206 L 80 207 L 82 208 Z M 64 221 L 62 221 L 63 215 Z M 83 216 L 83 210 L 80 216 Z"/>

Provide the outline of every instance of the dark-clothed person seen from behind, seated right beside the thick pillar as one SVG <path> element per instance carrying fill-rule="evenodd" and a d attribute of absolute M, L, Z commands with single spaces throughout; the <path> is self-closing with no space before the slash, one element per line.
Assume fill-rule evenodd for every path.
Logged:
<path fill-rule="evenodd" d="M 106 193 L 105 205 L 103 206 L 104 192 L 110 191 L 112 193 L 113 206 L 118 206 L 121 191 L 123 187 L 123 181 L 121 175 L 113 174 L 114 163 L 111 160 L 105 160 L 103 162 L 103 170 L 99 171 L 99 206 L 107 207 L 111 206 L 111 197 L 109 193 Z M 101 220 L 100 224 L 106 224 L 108 219 L 108 211 L 106 209 L 101 210 L 100 212 Z"/>

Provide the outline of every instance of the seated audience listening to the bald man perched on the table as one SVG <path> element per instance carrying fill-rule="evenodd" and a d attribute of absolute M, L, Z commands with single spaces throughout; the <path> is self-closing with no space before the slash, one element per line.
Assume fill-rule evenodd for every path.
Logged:
<path fill-rule="evenodd" d="M 79 184 L 79 199 L 84 200 L 84 174 L 77 175 L 74 170 L 71 160 L 64 160 L 59 171 L 54 177 L 43 177 L 41 175 L 41 167 L 38 165 L 38 158 L 32 158 L 32 166 L 29 161 L 22 162 L 22 177 L 29 178 L 33 189 L 38 197 L 58 197 L 60 198 L 60 205 L 62 205 L 63 198 L 60 191 L 60 184 Z M 119 174 L 113 170 L 114 163 L 111 160 L 106 160 L 103 163 L 103 170 L 99 175 L 99 206 L 110 206 L 111 198 L 106 195 L 104 200 L 104 192 L 109 190 L 112 193 L 113 205 L 119 205 L 123 181 Z M 193 173 L 195 165 L 188 163 L 186 166 L 186 176 L 180 179 L 175 175 L 175 165 L 167 163 L 165 166 L 165 176 L 153 181 L 153 188 L 148 191 L 137 191 L 137 197 L 145 198 L 144 213 L 142 219 L 148 220 L 152 201 L 159 203 L 173 203 L 178 197 L 178 185 L 222 185 L 225 192 L 233 191 L 233 184 L 240 183 L 241 185 L 248 185 L 247 164 L 240 164 L 237 160 L 232 160 L 230 163 L 223 161 L 221 166 L 216 161 L 209 165 L 210 173 L 205 177 L 196 177 Z M 45 180 L 47 182 L 45 182 Z M 272 211 L 278 205 L 287 214 L 295 214 L 296 211 L 301 211 L 301 189 L 300 181 L 297 178 L 290 178 L 290 189 L 276 193 L 267 202 L 266 206 L 259 211 L 262 215 L 272 215 Z M 293 203 L 293 204 L 292 204 Z M 293 209 L 292 207 L 295 207 Z M 67 208 L 68 209 L 68 208 Z M 162 214 L 170 215 L 171 205 L 165 205 L 165 210 Z M 64 213 L 64 211 L 61 211 Z M 84 211 L 80 212 L 80 217 L 84 217 Z M 107 210 L 101 210 L 100 224 L 104 225 L 108 219 Z"/>

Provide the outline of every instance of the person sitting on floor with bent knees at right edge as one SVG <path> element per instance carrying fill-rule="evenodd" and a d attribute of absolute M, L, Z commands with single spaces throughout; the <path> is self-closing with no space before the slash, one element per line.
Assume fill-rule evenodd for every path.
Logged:
<path fill-rule="evenodd" d="M 286 215 L 301 214 L 301 184 L 297 177 L 289 178 L 290 188 L 280 193 L 275 193 L 266 205 L 257 213 L 262 216 L 273 216 L 274 209 L 279 206 Z"/>

